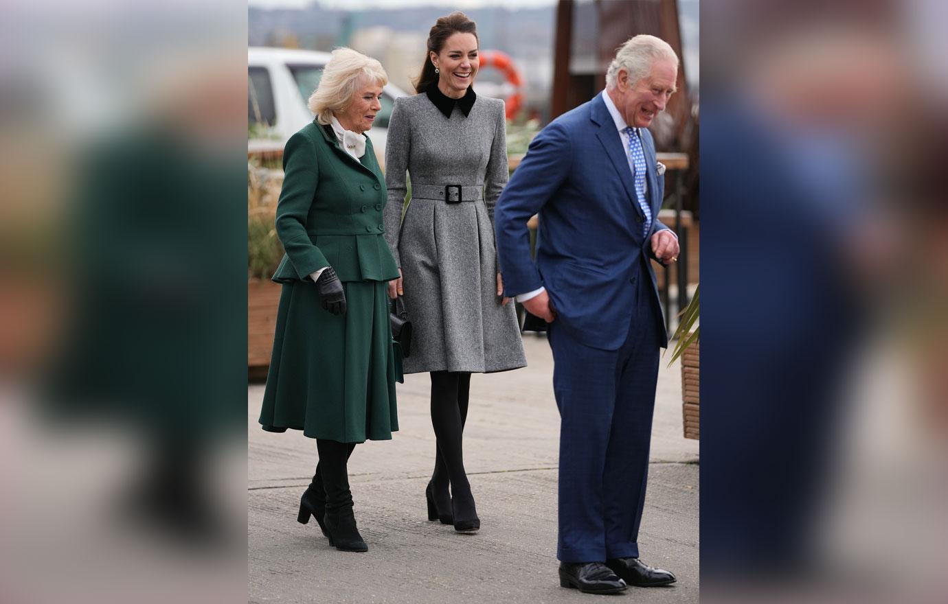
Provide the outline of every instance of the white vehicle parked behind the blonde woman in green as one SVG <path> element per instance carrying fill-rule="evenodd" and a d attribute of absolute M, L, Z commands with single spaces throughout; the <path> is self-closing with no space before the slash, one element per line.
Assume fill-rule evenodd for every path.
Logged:
<path fill-rule="evenodd" d="M 332 55 L 315 50 L 247 48 L 247 148 L 283 149 L 289 137 L 313 121 L 306 101 L 319 85 L 322 68 Z M 395 98 L 405 93 L 392 84 L 382 91 L 382 110 L 369 136 L 380 165 L 385 162 L 386 133 Z"/>

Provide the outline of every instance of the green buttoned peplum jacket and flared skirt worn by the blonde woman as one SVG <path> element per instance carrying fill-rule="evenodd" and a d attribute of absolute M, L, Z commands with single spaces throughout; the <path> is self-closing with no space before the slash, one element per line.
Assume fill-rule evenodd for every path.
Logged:
<path fill-rule="evenodd" d="M 387 194 L 372 141 L 356 160 L 315 121 L 283 151 L 277 235 L 286 254 L 260 423 L 339 442 L 392 438 L 401 356 L 392 340 L 386 282 L 398 276 L 384 238 Z M 322 309 L 310 274 L 332 266 L 347 311 Z"/>

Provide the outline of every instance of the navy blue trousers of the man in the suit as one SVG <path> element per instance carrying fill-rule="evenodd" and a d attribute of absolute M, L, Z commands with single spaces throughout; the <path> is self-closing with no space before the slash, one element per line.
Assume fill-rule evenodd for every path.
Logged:
<path fill-rule="evenodd" d="M 630 325 L 616 326 L 628 330 L 619 349 L 585 346 L 550 325 L 560 416 L 556 557 L 564 562 L 639 555 L 660 348 L 660 311 L 643 276 Z"/>

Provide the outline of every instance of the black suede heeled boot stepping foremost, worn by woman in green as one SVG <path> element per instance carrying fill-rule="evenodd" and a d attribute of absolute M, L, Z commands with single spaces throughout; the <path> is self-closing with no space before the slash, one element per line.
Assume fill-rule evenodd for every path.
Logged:
<path fill-rule="evenodd" d="M 349 445 L 317 438 L 322 483 L 326 489 L 326 513 L 323 526 L 329 544 L 344 552 L 366 552 L 369 546 L 358 532 L 353 512 L 353 496 L 349 489 L 347 460 Z"/>

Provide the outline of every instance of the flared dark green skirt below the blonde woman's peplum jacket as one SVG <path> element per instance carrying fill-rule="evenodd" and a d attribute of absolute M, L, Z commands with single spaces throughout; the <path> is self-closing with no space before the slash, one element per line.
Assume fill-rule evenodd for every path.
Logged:
<path fill-rule="evenodd" d="M 401 351 L 392 340 L 387 284 L 343 283 L 347 310 L 323 310 L 316 284 L 283 285 L 260 423 L 338 442 L 388 440 L 398 430 L 395 382 Z"/>

